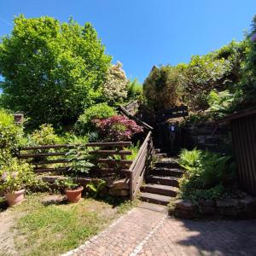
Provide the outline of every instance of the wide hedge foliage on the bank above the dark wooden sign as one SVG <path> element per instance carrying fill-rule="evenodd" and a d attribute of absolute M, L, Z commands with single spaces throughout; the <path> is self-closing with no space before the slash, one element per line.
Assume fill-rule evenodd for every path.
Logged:
<path fill-rule="evenodd" d="M 247 40 L 232 41 L 207 55 L 193 55 L 188 64 L 154 67 L 143 84 L 143 95 L 149 108 L 173 108 L 180 103 L 192 111 L 209 108 L 212 90 L 229 90 L 241 98 L 242 69 L 247 56 Z M 240 101 L 234 102 L 234 108 Z M 235 104 L 236 103 L 236 104 Z"/>

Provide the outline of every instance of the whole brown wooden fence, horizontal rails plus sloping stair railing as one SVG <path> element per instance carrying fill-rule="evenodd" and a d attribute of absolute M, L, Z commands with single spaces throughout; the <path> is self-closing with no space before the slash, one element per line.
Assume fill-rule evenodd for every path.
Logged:
<path fill-rule="evenodd" d="M 130 146 L 131 142 L 115 142 L 115 143 L 87 143 L 84 145 L 43 145 L 35 147 L 23 147 L 20 148 L 20 159 L 29 160 L 35 167 L 34 172 L 69 172 L 71 166 L 58 166 L 49 167 L 53 164 L 67 165 L 69 160 L 67 159 L 68 150 L 76 147 L 97 147 L 100 149 L 90 150 L 91 155 L 98 155 L 95 159 L 97 164 L 105 164 L 108 167 L 100 168 L 100 171 L 106 174 L 119 173 L 125 177 L 130 177 L 130 198 L 134 200 L 137 197 L 139 189 L 143 183 L 145 172 L 148 170 L 148 166 L 152 156 L 153 143 L 152 132 L 149 131 L 145 138 L 143 145 L 139 149 L 135 160 L 126 160 L 127 155 L 131 155 L 131 150 L 125 150 L 124 148 Z M 107 149 L 106 149 L 107 148 Z M 49 152 L 54 149 L 55 152 Z M 119 160 L 109 159 L 109 156 L 119 155 Z M 49 160 L 49 158 L 55 157 L 55 159 Z M 58 158 L 56 158 L 58 157 Z M 60 158 L 59 158 L 60 157 Z M 38 160 L 39 159 L 39 160 Z M 121 166 L 120 169 L 116 169 L 114 166 Z M 45 167 L 46 166 L 46 167 Z"/>

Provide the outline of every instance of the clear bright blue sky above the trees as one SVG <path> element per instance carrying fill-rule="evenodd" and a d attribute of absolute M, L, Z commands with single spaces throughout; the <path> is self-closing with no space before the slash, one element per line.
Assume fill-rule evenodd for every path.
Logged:
<path fill-rule="evenodd" d="M 0 36 L 20 14 L 91 22 L 113 63 L 121 61 L 127 77 L 143 83 L 154 65 L 188 62 L 242 40 L 256 0 L 0 0 Z"/>

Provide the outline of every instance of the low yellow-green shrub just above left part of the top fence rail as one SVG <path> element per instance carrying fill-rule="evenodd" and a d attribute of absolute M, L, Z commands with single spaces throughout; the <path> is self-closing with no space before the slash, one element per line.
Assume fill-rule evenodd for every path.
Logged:
<path fill-rule="evenodd" d="M 28 143 L 30 145 L 50 145 L 62 143 L 62 140 L 55 134 L 52 125 L 44 124 L 28 136 Z"/>

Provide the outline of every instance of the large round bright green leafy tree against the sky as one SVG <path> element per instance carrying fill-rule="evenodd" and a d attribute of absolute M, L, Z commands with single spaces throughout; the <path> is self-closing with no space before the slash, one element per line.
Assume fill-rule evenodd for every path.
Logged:
<path fill-rule="evenodd" d="M 102 96 L 110 61 L 90 23 L 20 15 L 0 44 L 3 105 L 33 125 L 73 123 Z"/>

